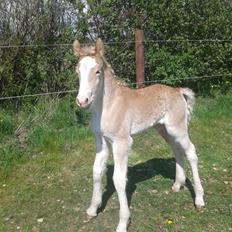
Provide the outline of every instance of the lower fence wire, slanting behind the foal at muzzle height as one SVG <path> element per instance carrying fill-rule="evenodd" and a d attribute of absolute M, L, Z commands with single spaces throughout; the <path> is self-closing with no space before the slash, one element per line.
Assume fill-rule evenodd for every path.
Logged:
<path fill-rule="evenodd" d="M 204 76 L 193 76 L 193 77 L 186 77 L 186 78 L 173 78 L 173 79 L 168 79 L 168 80 L 151 80 L 151 81 L 144 81 L 144 82 L 140 82 L 140 83 L 136 83 L 136 82 L 132 82 L 132 83 L 125 83 L 126 86 L 135 86 L 137 84 L 155 84 L 155 83 L 168 83 L 170 84 L 170 82 L 173 81 L 183 81 L 183 80 L 191 80 L 191 81 L 197 81 L 200 79 L 204 79 L 204 78 L 210 78 L 213 79 L 215 77 L 223 77 L 223 76 L 231 76 L 232 74 L 228 73 L 228 74 L 218 74 L 218 75 L 204 75 Z M 54 94 L 64 94 L 64 93 L 76 93 L 77 89 L 73 89 L 73 90 L 63 90 L 63 91 L 56 91 L 56 92 L 47 92 L 47 93 L 36 93 L 36 94 L 26 94 L 26 95 L 18 95 L 18 96 L 5 96 L 5 97 L 0 97 L 0 100 L 12 100 L 12 99 L 20 99 L 20 98 L 27 98 L 27 97 L 40 97 L 40 96 L 48 96 L 48 95 L 54 95 Z"/>

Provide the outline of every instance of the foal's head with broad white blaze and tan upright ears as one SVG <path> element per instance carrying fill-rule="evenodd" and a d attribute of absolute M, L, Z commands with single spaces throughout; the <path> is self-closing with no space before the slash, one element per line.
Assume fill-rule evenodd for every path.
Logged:
<path fill-rule="evenodd" d="M 103 42 L 98 39 L 95 47 L 81 47 L 78 40 L 73 43 L 74 54 L 79 58 L 76 72 L 80 79 L 77 104 L 88 108 L 95 100 L 103 83 Z"/>

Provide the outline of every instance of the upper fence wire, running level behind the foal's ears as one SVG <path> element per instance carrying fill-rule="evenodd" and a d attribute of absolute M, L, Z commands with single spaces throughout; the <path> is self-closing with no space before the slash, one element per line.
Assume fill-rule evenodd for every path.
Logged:
<path fill-rule="evenodd" d="M 144 40 L 144 43 L 177 43 L 177 42 L 189 42 L 189 43 L 231 43 L 231 39 L 156 39 L 156 40 Z M 94 42 L 83 43 L 84 45 L 91 45 Z M 105 45 L 110 44 L 131 44 L 136 43 L 135 40 L 128 41 L 112 41 L 105 42 Z M 60 43 L 60 44 L 22 44 L 22 45 L 0 45 L 0 49 L 5 48 L 33 48 L 33 47 L 68 47 L 72 46 L 71 43 Z"/>

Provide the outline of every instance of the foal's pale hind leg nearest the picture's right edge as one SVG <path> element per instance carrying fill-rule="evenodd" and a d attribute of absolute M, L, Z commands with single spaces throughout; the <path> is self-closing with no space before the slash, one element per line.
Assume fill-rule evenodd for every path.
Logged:
<path fill-rule="evenodd" d="M 198 158 L 196 155 L 195 146 L 189 139 L 189 135 L 187 132 L 187 128 L 185 126 L 179 125 L 179 127 L 167 127 L 167 133 L 169 134 L 169 142 L 171 146 L 177 151 L 180 151 L 178 158 L 181 155 L 185 155 L 187 160 L 189 161 L 192 175 L 193 175 L 193 187 L 195 191 L 195 205 L 196 207 L 204 206 L 204 190 L 201 185 L 201 180 L 198 173 Z M 182 159 L 182 158 L 181 158 Z M 182 163 L 181 161 L 180 163 Z M 178 164 L 178 162 L 177 162 Z M 183 170 L 183 166 L 180 167 L 180 170 Z M 175 182 L 173 186 L 174 190 L 179 188 L 179 183 Z"/>

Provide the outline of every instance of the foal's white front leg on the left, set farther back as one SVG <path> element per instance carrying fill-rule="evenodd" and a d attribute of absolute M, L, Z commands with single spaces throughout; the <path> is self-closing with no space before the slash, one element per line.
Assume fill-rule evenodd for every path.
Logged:
<path fill-rule="evenodd" d="M 93 195 L 90 207 L 87 209 L 89 217 L 97 216 L 97 209 L 100 207 L 102 202 L 101 182 L 109 151 L 107 142 L 101 136 L 96 136 L 96 151 L 96 157 L 93 165 Z"/>

